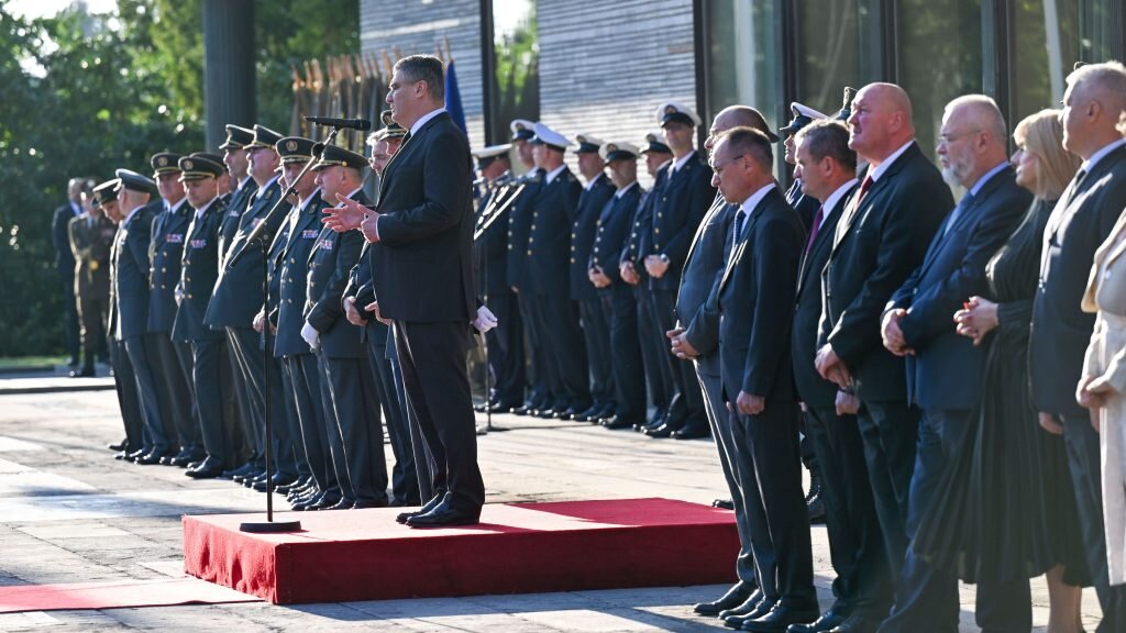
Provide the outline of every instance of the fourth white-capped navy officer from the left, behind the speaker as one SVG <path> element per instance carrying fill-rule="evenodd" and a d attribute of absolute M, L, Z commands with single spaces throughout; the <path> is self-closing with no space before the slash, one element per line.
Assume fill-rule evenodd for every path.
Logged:
<path fill-rule="evenodd" d="M 602 310 L 597 288 L 590 283 L 590 251 L 595 243 L 602 207 L 614 196 L 615 187 L 606 176 L 606 161 L 598 150 L 602 140 L 590 134 L 575 135 L 579 172 L 587 181 L 579 195 L 579 206 L 571 220 L 571 257 L 568 273 L 571 301 L 579 305 L 582 335 L 590 363 L 590 408 L 573 416 L 579 421 L 598 421 L 614 414 L 614 374 L 610 368 L 610 316 Z"/>

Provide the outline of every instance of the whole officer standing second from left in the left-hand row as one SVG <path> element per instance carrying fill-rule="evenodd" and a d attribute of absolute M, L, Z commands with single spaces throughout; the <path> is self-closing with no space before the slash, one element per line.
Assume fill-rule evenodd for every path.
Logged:
<path fill-rule="evenodd" d="M 157 196 L 157 184 L 128 169 L 118 169 L 116 176 L 122 181 L 117 200 L 123 220 L 110 257 L 116 297 L 114 338 L 125 346 L 133 366 L 144 421 L 143 445 L 129 457 L 148 465 L 160 463 L 161 457 L 176 455 L 173 430 L 161 417 L 155 376 L 158 365 L 151 351 L 155 336 L 148 333 L 149 242 L 159 208 L 150 204 L 150 199 Z"/>

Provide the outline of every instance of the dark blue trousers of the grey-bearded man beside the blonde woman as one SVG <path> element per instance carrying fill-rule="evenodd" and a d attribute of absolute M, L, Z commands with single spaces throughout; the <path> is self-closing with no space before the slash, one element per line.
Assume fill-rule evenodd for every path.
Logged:
<path fill-rule="evenodd" d="M 919 421 L 914 473 L 911 476 L 911 500 L 906 533 L 914 540 L 927 509 L 935 500 L 947 464 L 963 445 L 969 428 L 969 411 L 965 409 L 928 409 Z M 997 582 L 982 579 L 977 583 L 977 623 L 990 632 L 1028 631 L 1033 627 L 1031 594 L 1022 570 L 1017 578 Z M 901 571 L 901 582 L 892 615 L 881 625 L 882 632 L 958 631 L 958 579 L 935 568 L 914 554 L 909 546 Z M 985 619 L 985 621 L 983 621 Z"/>

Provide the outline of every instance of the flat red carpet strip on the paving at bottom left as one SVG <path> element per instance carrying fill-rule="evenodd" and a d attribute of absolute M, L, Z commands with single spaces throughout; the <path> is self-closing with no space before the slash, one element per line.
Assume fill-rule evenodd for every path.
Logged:
<path fill-rule="evenodd" d="M 195 578 L 0 587 L 0 613 L 257 601 L 253 596 Z"/>

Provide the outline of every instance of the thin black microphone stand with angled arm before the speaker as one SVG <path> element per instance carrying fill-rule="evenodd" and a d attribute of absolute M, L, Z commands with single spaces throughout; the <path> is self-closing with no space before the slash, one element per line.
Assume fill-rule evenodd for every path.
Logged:
<path fill-rule="evenodd" d="M 271 224 L 270 221 L 274 219 L 275 214 L 278 213 L 278 209 L 282 208 L 282 205 L 285 204 L 286 198 L 288 198 L 292 194 L 297 193 L 295 185 L 301 182 L 301 179 L 305 177 L 305 173 L 307 173 L 313 167 L 313 163 L 316 162 L 316 158 L 324 151 L 324 145 L 332 143 L 338 133 L 340 133 L 340 128 L 333 127 L 329 137 L 325 139 L 323 143 L 320 143 L 320 151 L 318 151 L 316 146 L 313 148 L 313 158 L 305 163 L 305 167 L 302 168 L 297 178 L 294 178 L 293 184 L 282 191 L 282 196 L 278 198 L 278 202 L 274 204 L 274 208 L 266 214 L 266 219 L 262 220 L 250 233 L 250 237 L 247 238 L 247 247 L 253 242 L 258 242 L 261 247 L 262 305 L 267 309 L 270 305 L 269 256 L 270 241 L 272 240 L 272 235 L 269 235 L 270 231 L 268 228 Z M 243 247 L 243 252 L 245 252 L 245 247 Z M 234 266 L 234 264 L 239 260 L 239 255 L 241 255 L 241 252 L 236 253 L 235 257 L 232 258 L 230 266 Z M 282 532 L 297 532 L 301 529 L 300 520 L 274 520 L 274 422 L 270 414 L 270 320 L 268 314 L 269 313 L 267 312 L 266 322 L 262 324 L 262 400 L 266 402 L 266 521 L 243 521 L 239 524 L 239 532 L 251 532 L 257 534 L 276 534 Z"/>

